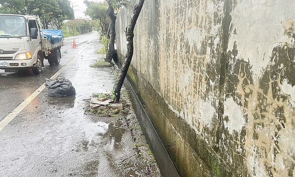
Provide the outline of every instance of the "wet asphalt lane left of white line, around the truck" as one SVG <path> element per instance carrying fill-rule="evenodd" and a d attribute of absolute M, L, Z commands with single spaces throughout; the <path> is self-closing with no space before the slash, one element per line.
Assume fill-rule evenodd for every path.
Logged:
<path fill-rule="evenodd" d="M 72 49 L 74 39 L 77 43 L 76 50 Z M 60 64 L 50 66 L 48 61 L 44 60 L 45 66 L 40 75 L 34 75 L 31 71 L 4 73 L 4 70 L 0 70 L 0 121 L 40 87 L 44 83 L 44 78 L 50 78 L 54 75 L 78 53 L 79 49 L 82 49 L 91 40 L 93 40 L 93 35 L 89 34 L 66 38 L 64 46 L 61 48 Z"/>

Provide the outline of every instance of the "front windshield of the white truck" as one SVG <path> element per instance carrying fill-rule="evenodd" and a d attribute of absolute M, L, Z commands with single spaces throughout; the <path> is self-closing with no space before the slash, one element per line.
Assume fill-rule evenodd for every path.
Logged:
<path fill-rule="evenodd" d="M 26 18 L 0 15 L 0 38 L 23 37 L 27 35 Z"/>

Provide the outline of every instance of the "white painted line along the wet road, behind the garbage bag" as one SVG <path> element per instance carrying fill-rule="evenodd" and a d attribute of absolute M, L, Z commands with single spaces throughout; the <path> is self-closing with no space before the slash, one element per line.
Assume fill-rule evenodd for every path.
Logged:
<path fill-rule="evenodd" d="M 90 44 L 90 43 L 89 43 Z M 75 56 L 73 56 L 59 71 L 54 74 L 51 79 L 55 79 L 59 74 L 69 66 L 74 59 L 76 59 L 79 54 L 84 51 L 84 49 L 89 45 L 87 44 L 81 51 L 79 51 Z M 36 98 L 43 90 L 45 89 L 45 83 L 43 83 L 36 91 L 34 91 L 25 101 L 18 105 L 11 113 L 9 113 L 1 122 L 0 122 L 0 131 L 7 126 L 34 98 Z"/>

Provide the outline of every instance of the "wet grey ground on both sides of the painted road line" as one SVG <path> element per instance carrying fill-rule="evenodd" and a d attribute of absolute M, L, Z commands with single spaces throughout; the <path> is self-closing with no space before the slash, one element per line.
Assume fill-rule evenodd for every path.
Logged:
<path fill-rule="evenodd" d="M 67 38 L 61 64 L 45 61 L 41 75 L 0 71 L 0 121 L 5 121 L 44 78 L 75 57 L 59 75 L 71 80 L 75 97 L 51 98 L 45 88 L 0 128 L 0 177 L 161 176 L 132 110 L 113 118 L 86 111 L 93 93 L 112 90 L 114 73 L 110 67 L 90 67 L 99 57 L 96 32 L 74 38 L 77 50 L 71 47 L 73 37 Z"/>

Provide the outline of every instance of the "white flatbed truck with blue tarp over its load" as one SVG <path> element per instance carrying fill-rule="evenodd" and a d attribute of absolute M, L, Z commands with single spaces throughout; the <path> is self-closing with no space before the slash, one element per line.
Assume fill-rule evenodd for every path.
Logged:
<path fill-rule="evenodd" d="M 50 35 L 44 36 L 38 18 L 0 14 L 0 70 L 31 69 L 37 75 L 42 72 L 44 59 L 59 64 L 63 36 L 61 30 L 57 32 L 59 38 L 50 39 Z"/>

